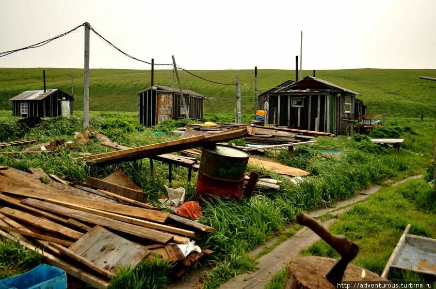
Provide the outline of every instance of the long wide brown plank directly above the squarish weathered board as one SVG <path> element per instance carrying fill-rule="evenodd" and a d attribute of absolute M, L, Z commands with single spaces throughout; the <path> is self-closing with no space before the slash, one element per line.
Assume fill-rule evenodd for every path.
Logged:
<path fill-rule="evenodd" d="M 155 241 L 157 243 L 168 243 L 173 240 L 174 236 L 168 233 L 160 232 L 154 229 L 144 228 L 136 225 L 127 224 L 121 221 L 112 220 L 110 218 L 98 216 L 92 213 L 81 212 L 78 210 L 66 208 L 52 203 L 43 202 L 36 199 L 25 199 L 23 203 L 35 208 L 46 210 L 52 213 L 62 214 L 70 218 L 75 218 L 83 222 L 88 222 L 113 230 L 128 233 L 146 240 Z"/>

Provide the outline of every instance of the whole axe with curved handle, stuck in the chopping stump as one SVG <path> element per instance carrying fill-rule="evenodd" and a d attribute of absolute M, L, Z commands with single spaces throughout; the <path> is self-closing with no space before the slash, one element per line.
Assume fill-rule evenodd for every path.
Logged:
<path fill-rule="evenodd" d="M 336 261 L 335 265 L 325 275 L 325 278 L 327 278 L 332 285 L 336 286 L 342 281 L 348 263 L 359 253 L 359 246 L 348 240 L 345 236 L 330 233 L 320 222 L 307 214 L 298 213 L 297 223 L 310 228 L 339 253 L 340 259 Z"/>

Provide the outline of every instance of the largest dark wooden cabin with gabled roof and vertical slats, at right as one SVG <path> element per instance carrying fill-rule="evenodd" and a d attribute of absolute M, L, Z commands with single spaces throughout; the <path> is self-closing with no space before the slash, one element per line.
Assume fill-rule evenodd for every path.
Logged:
<path fill-rule="evenodd" d="M 258 98 L 266 125 L 351 135 L 358 119 L 355 110 L 365 109 L 356 95 L 359 93 L 306 76 L 297 82 L 288 80 Z"/>

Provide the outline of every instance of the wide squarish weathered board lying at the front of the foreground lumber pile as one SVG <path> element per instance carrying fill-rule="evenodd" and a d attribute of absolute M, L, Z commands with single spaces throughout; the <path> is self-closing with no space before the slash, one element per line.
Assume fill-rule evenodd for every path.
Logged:
<path fill-rule="evenodd" d="M 115 272 L 117 266 L 136 267 L 149 250 L 105 228 L 96 226 L 69 248 L 97 266 Z"/>

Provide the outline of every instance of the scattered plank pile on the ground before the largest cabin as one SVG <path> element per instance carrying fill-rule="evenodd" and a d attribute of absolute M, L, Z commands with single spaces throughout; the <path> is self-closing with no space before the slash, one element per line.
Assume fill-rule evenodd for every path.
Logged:
<path fill-rule="evenodd" d="M 248 136 L 244 137 L 244 139 L 245 142 L 249 144 L 277 145 L 301 142 L 320 136 L 333 136 L 330 133 L 324 132 L 223 122 L 218 122 L 216 123 L 216 125 L 190 124 L 186 127 L 178 128 L 178 130 L 173 131 L 173 133 L 181 137 L 194 137 L 201 135 L 211 135 L 238 127 L 247 128 Z"/>

